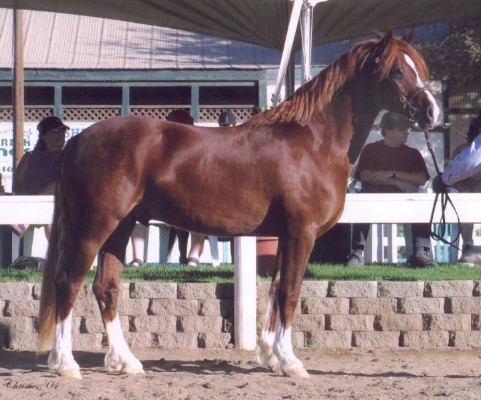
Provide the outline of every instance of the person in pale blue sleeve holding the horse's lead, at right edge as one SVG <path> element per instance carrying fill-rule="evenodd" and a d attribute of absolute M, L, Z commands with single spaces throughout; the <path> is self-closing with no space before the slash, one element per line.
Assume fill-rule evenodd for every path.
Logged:
<path fill-rule="evenodd" d="M 461 193 L 481 192 L 481 113 L 471 121 L 467 134 L 467 143 L 459 146 L 453 153 L 448 168 L 442 173 L 442 182 L 453 186 Z M 433 183 L 433 187 L 439 182 Z M 460 223 L 459 231 L 463 240 L 459 263 L 481 265 L 481 247 L 474 246 L 474 224 Z"/>

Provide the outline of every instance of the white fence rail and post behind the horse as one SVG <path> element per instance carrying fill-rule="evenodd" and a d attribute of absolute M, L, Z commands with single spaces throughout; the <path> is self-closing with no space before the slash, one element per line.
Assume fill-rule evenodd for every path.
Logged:
<path fill-rule="evenodd" d="M 429 222 L 434 196 L 430 193 L 348 193 L 339 222 L 373 224 Z M 481 222 L 480 194 L 452 193 L 450 196 L 461 222 Z M 53 196 L 0 196 L 0 225 L 48 224 L 51 222 L 52 213 Z M 441 208 L 438 205 L 434 221 L 439 221 L 440 218 Z M 458 221 L 453 209 L 446 210 L 445 221 L 447 223 Z M 384 247 L 383 240 L 378 242 Z M 237 249 L 234 272 L 235 340 L 239 348 L 253 349 L 256 343 L 256 306 L 253 296 L 255 291 L 252 289 L 256 286 L 255 238 L 236 238 L 235 248 Z"/>

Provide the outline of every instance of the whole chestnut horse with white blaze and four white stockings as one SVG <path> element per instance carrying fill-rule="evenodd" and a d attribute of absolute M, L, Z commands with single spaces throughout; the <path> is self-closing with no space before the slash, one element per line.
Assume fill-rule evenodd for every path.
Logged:
<path fill-rule="evenodd" d="M 51 350 L 50 369 L 81 377 L 72 307 L 99 253 L 93 292 L 110 345 L 105 367 L 143 372 L 122 334 L 117 301 L 132 227 L 156 219 L 210 235 L 279 237 L 258 360 L 307 377 L 292 349 L 293 314 L 314 241 L 342 213 L 352 163 L 382 109 L 423 129 L 439 116 L 412 36 L 388 31 L 358 43 L 283 103 L 236 127 L 126 116 L 72 138 L 42 282 L 39 350 Z"/>

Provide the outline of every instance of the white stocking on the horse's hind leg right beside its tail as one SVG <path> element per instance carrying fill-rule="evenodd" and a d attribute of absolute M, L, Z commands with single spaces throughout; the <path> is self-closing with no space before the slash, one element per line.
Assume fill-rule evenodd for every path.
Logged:
<path fill-rule="evenodd" d="M 72 312 L 55 327 L 55 343 L 48 356 L 48 367 L 57 374 L 82 379 L 72 354 Z"/>

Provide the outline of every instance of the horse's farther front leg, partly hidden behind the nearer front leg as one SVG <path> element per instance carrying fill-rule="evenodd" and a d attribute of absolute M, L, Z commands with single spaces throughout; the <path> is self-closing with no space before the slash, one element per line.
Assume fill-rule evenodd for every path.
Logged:
<path fill-rule="evenodd" d="M 264 316 L 264 326 L 257 346 L 257 362 L 260 365 L 270 368 L 270 370 L 274 372 L 278 372 L 281 369 L 280 361 L 274 354 L 273 346 L 277 325 L 279 324 L 277 293 L 280 283 L 282 247 L 282 242 L 279 240 L 274 275 L 272 276 L 271 287 L 269 289 L 269 300 L 267 302 L 267 309 Z"/>

